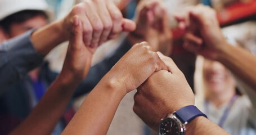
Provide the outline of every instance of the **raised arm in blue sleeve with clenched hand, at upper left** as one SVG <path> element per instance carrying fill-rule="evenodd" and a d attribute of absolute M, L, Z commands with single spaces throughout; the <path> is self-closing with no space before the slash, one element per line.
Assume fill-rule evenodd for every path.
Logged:
<path fill-rule="evenodd" d="M 89 47 L 100 46 L 106 40 L 115 38 L 120 32 L 132 31 L 136 28 L 133 21 L 123 18 L 122 13 L 111 0 L 81 2 L 73 7 L 64 19 L 5 42 L 3 43 L 5 46 L 1 45 L 0 86 L 8 87 L 22 79 L 28 71 L 39 66 L 43 56 L 57 44 L 68 40 L 75 15 L 78 15 L 82 21 L 83 42 Z"/>

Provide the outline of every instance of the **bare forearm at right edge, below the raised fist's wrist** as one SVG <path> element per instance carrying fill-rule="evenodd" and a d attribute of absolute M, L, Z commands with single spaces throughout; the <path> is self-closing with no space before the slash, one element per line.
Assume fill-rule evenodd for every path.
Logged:
<path fill-rule="evenodd" d="M 219 52 L 217 60 L 230 69 L 237 78 L 256 88 L 256 57 L 251 53 L 227 44 Z"/>

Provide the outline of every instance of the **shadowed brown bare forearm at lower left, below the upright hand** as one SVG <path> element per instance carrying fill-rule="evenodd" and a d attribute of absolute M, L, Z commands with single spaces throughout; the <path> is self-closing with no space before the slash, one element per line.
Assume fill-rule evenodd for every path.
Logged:
<path fill-rule="evenodd" d="M 11 134 L 51 134 L 73 96 L 77 82 L 58 77 L 32 113 Z"/>

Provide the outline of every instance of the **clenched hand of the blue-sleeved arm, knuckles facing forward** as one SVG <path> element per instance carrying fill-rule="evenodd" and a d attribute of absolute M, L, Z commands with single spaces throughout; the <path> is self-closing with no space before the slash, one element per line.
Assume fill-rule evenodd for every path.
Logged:
<path fill-rule="evenodd" d="M 132 31 L 136 28 L 133 21 L 123 18 L 112 0 L 85 0 L 74 6 L 62 21 L 66 35 L 71 31 L 75 15 L 82 21 L 84 44 L 92 48 L 117 37 L 122 31 Z"/>

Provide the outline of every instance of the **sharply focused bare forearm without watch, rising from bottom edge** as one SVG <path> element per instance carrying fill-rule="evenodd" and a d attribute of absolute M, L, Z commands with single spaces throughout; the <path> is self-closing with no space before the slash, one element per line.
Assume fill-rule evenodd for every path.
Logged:
<path fill-rule="evenodd" d="M 122 87 L 107 75 L 97 84 L 80 106 L 62 134 L 105 135 L 124 95 Z"/>

